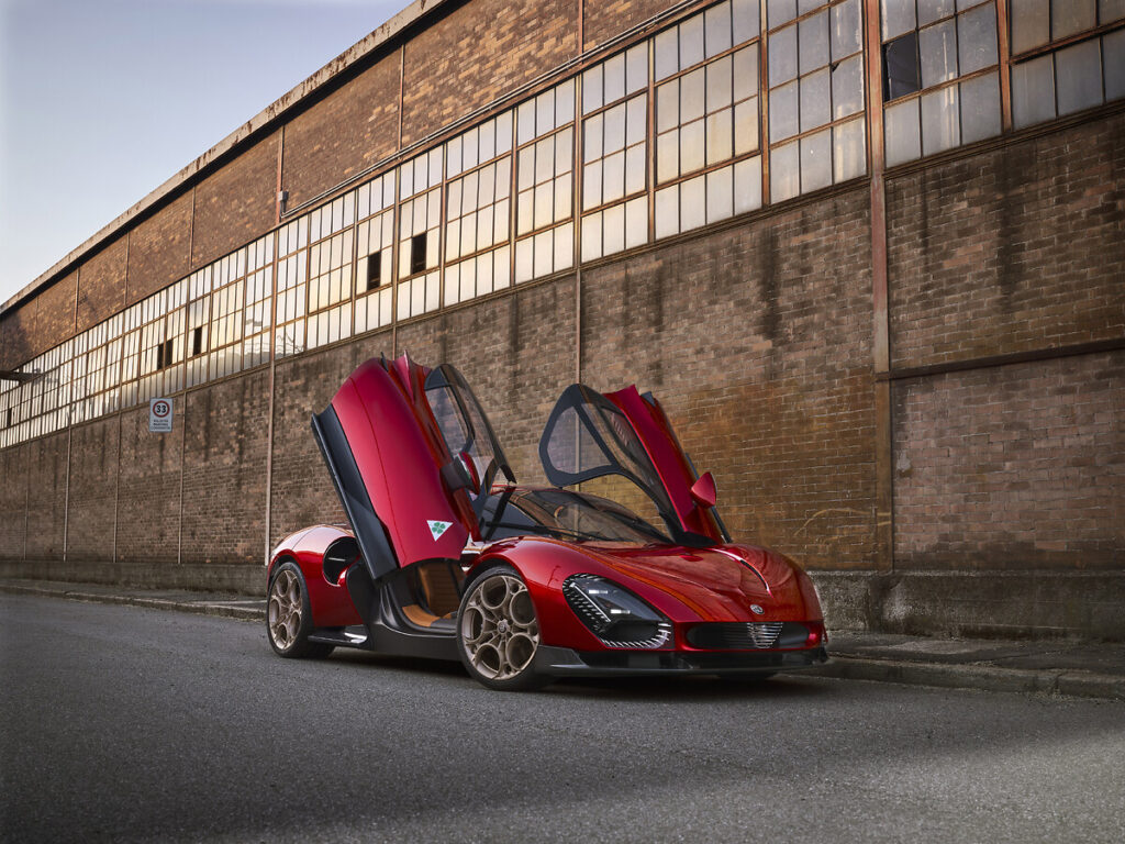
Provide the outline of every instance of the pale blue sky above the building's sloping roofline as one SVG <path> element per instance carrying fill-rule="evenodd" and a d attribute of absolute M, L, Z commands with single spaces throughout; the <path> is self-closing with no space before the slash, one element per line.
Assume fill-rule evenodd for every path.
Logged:
<path fill-rule="evenodd" d="M 410 0 L 0 0 L 0 307 Z"/>

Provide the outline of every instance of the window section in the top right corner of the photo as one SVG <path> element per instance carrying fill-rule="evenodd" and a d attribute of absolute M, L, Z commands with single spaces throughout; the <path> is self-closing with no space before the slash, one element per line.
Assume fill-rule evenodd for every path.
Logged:
<path fill-rule="evenodd" d="M 1125 0 L 1009 0 L 1009 7 L 1016 128 L 1125 97 Z"/>

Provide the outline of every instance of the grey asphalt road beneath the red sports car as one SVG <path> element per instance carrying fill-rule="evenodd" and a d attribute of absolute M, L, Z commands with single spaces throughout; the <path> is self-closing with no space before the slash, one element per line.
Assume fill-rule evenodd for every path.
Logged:
<path fill-rule="evenodd" d="M 12 595 L 0 648 L 3 841 L 1125 841 L 1119 702 L 799 676 L 503 694 Z"/>

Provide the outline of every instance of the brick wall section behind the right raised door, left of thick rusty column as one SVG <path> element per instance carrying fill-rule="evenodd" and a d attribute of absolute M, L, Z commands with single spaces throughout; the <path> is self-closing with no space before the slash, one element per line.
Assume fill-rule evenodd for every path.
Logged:
<path fill-rule="evenodd" d="M 736 538 L 870 567 L 866 192 L 584 273 L 583 379 L 660 398 Z"/>

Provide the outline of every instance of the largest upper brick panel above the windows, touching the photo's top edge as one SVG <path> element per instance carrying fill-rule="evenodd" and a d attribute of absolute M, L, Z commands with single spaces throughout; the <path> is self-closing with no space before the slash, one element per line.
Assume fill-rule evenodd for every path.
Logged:
<path fill-rule="evenodd" d="M 403 144 L 578 54 L 574 0 L 476 0 L 406 45 Z"/>

